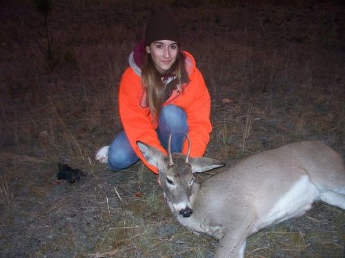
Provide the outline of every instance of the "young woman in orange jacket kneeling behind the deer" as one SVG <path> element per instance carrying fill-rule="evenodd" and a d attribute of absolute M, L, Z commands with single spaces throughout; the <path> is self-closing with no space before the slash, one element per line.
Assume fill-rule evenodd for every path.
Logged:
<path fill-rule="evenodd" d="M 191 54 L 181 51 L 179 25 L 165 6 L 152 8 L 145 41 L 130 54 L 129 67 L 119 87 L 119 114 L 124 131 L 110 146 L 99 149 L 96 160 L 108 163 L 112 171 L 126 169 L 139 159 L 146 162 L 136 142 L 146 142 L 166 153 L 191 157 L 204 155 L 212 130 L 210 95 Z"/>

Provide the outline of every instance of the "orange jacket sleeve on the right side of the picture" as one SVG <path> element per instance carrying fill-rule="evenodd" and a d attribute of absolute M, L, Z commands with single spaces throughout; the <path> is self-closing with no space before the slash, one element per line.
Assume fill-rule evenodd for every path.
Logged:
<path fill-rule="evenodd" d="M 210 94 L 205 85 L 204 78 L 195 68 L 195 74 L 191 78 L 190 89 L 186 89 L 185 94 L 191 94 L 188 101 L 190 105 L 186 107 L 188 118 L 188 136 L 191 142 L 190 156 L 201 157 L 206 151 L 208 142 L 210 141 L 210 132 L 212 125 L 210 123 Z M 190 91 L 190 92 L 188 92 Z M 182 153 L 186 154 L 188 150 L 188 140 L 184 142 Z"/>

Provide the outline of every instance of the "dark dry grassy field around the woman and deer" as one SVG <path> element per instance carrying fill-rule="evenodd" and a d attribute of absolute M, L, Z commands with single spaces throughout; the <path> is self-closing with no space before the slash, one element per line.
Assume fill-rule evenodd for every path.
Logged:
<path fill-rule="evenodd" d="M 121 131 L 119 80 L 152 2 L 1 1 L 0 257 L 213 257 L 217 241 L 177 223 L 141 162 L 113 173 L 94 160 Z M 345 157 L 342 1 L 169 3 L 212 97 L 207 156 L 231 166 L 315 139 Z M 84 175 L 57 180 L 59 163 Z M 344 247 L 345 211 L 318 202 L 248 238 L 246 257 Z"/>

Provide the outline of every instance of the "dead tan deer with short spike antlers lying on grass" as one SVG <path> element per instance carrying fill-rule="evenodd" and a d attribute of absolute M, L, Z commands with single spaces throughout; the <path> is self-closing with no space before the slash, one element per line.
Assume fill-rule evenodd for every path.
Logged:
<path fill-rule="evenodd" d="M 187 136 L 188 138 L 188 136 Z M 301 141 L 249 155 L 196 182 L 194 173 L 225 166 L 213 158 L 161 153 L 137 142 L 172 214 L 182 226 L 206 233 L 219 244 L 215 258 L 244 257 L 246 238 L 270 225 L 302 216 L 315 201 L 345 209 L 345 166 L 319 141 Z"/>

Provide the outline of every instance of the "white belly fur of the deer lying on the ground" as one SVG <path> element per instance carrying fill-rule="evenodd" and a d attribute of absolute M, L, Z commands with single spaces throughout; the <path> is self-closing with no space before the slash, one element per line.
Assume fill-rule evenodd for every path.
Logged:
<path fill-rule="evenodd" d="M 255 224 L 253 233 L 265 228 L 271 224 L 282 222 L 286 219 L 299 217 L 308 211 L 313 201 L 320 199 L 319 189 L 311 183 L 308 175 L 303 175 L 285 195 L 279 198 L 279 201 L 268 211 L 268 213 L 260 214 L 264 211 L 263 202 L 267 200 L 255 200 L 255 208 L 258 221 Z M 267 204 L 268 206 L 270 204 Z"/>

